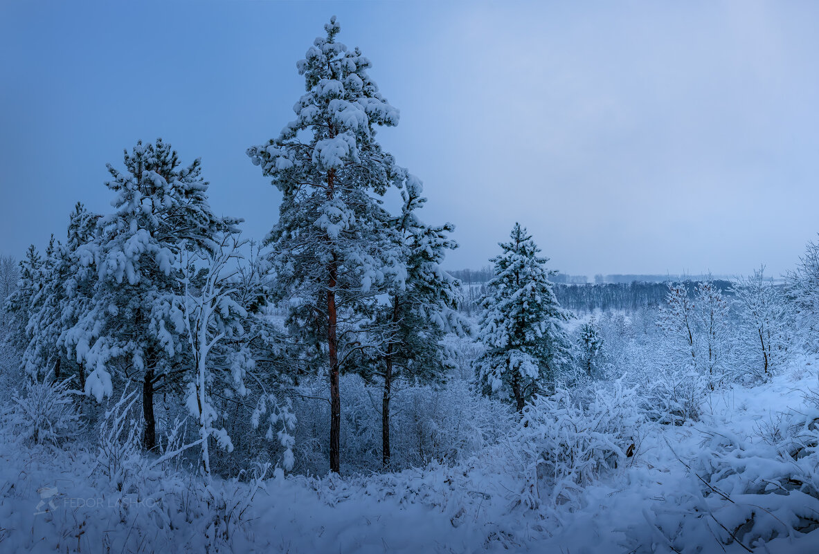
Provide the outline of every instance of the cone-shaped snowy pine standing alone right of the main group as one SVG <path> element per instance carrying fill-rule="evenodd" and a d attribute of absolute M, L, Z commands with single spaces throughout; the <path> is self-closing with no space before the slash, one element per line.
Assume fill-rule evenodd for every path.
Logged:
<path fill-rule="evenodd" d="M 495 277 L 486 285 L 478 336 L 486 350 L 476 368 L 492 393 L 503 390 L 522 412 L 532 395 L 554 389 L 571 362 L 563 323 L 572 313 L 560 307 L 549 281 L 555 272 L 526 228 L 515 223 L 509 238 L 491 259 Z"/>

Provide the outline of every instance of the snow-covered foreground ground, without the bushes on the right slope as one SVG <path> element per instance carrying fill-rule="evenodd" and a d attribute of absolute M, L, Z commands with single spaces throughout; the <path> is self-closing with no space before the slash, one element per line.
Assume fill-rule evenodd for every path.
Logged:
<path fill-rule="evenodd" d="M 779 413 L 806 409 L 803 393 L 817 385 L 816 367 L 802 359 L 767 385 L 714 394 L 693 425 L 647 424 L 636 456 L 587 487 L 573 510 L 516 502 L 522 485 L 504 471 L 502 444 L 497 456 L 455 468 L 323 480 L 279 473 L 250 498 L 248 484 L 208 488 L 156 473 L 142 475 L 141 494 L 111 492 L 94 453 L 32 450 L 3 435 L 0 551 L 673 552 L 648 522 L 675 507 L 675 498 L 698 494 L 685 464 L 702 456 L 704 439 L 716 432 L 759 443 Z M 704 521 L 696 525 L 692 547 L 723 552 Z M 759 552 L 819 552 L 819 531 L 776 538 Z"/>

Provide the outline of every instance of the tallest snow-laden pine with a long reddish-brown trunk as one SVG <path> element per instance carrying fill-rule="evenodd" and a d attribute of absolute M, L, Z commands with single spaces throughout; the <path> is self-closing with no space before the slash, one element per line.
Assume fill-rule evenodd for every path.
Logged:
<path fill-rule="evenodd" d="M 369 60 L 336 41 L 335 17 L 298 62 L 305 94 L 296 119 L 247 154 L 283 193 L 267 242 L 283 295 L 297 298 L 288 323 L 327 356 L 330 381 L 330 470 L 340 471 L 339 367 L 355 350 L 360 322 L 390 282 L 403 279 L 376 196 L 400 187 L 406 172 L 375 140 L 398 110 L 370 79 Z"/>

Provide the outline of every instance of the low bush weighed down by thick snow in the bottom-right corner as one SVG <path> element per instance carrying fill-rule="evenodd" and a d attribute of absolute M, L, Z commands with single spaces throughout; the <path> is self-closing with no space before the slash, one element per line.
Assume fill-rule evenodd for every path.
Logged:
<path fill-rule="evenodd" d="M 819 527 L 816 465 L 815 452 L 794 458 L 761 440 L 714 435 L 690 466 L 691 489 L 645 511 L 650 534 L 682 553 L 750 552 L 777 538 L 798 539 Z M 650 552 L 643 548 L 635 552 Z"/>

